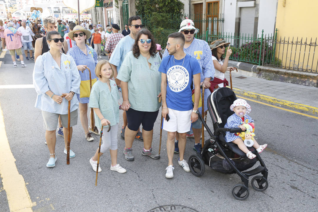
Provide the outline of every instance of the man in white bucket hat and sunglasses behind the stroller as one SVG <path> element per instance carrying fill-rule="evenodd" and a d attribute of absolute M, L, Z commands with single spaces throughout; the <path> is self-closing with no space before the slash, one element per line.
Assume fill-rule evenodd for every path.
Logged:
<path fill-rule="evenodd" d="M 194 23 L 192 20 L 186 18 L 180 24 L 180 30 L 184 37 L 185 37 L 185 44 L 183 46 L 183 51 L 187 54 L 190 54 L 192 57 L 197 58 L 202 74 L 201 74 L 201 85 L 204 85 L 205 92 L 204 92 L 204 109 L 207 110 L 207 99 L 208 96 L 211 94 L 210 90 L 210 81 L 214 79 L 214 65 L 212 63 L 212 53 L 209 47 L 209 44 L 201 39 L 194 38 L 194 34 L 198 32 L 198 29 L 195 28 Z M 165 51 L 163 57 L 167 56 L 169 53 Z M 202 89 L 201 89 L 202 93 Z M 199 107 L 199 113 L 202 113 L 202 107 Z M 200 144 L 200 137 L 202 132 L 202 122 L 198 119 L 196 122 L 192 123 L 192 130 L 193 133 L 188 132 L 187 137 L 193 138 L 195 140 L 195 144 L 193 149 L 197 152 L 200 152 L 202 145 Z M 178 147 L 178 135 L 176 137 L 175 142 L 175 153 L 179 152 Z"/>

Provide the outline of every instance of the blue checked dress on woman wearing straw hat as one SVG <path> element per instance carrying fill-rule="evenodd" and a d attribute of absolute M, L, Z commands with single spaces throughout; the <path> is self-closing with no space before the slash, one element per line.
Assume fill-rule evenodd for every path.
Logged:
<path fill-rule="evenodd" d="M 89 70 L 91 70 L 92 79 L 96 79 L 95 67 L 97 64 L 97 53 L 93 48 L 90 48 L 88 45 L 86 46 L 87 55 L 77 46 L 73 46 L 71 49 L 67 51 L 67 55 L 71 55 L 76 63 L 76 65 L 86 65 Z M 88 69 L 85 69 L 84 72 L 78 71 L 80 75 L 81 81 L 89 80 L 89 72 Z M 77 94 L 77 99 L 80 103 L 88 103 L 89 97 L 79 98 L 79 93 Z"/>

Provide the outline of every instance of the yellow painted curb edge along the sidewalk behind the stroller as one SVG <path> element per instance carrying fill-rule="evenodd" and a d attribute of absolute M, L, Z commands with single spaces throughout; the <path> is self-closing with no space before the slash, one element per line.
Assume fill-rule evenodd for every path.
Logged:
<path fill-rule="evenodd" d="M 274 97 L 270 97 L 270 96 L 266 96 L 263 94 L 250 92 L 250 91 L 245 91 L 245 90 L 238 89 L 238 88 L 233 88 L 233 91 L 235 92 L 235 94 L 250 97 L 253 99 L 258 99 L 261 101 L 265 101 L 265 102 L 268 102 L 268 103 L 276 105 L 276 106 L 289 107 L 289 108 L 292 108 L 294 110 L 318 115 L 318 107 L 303 105 L 303 104 L 299 104 L 299 103 L 295 103 L 295 102 L 286 101 L 283 99 L 276 99 Z"/>

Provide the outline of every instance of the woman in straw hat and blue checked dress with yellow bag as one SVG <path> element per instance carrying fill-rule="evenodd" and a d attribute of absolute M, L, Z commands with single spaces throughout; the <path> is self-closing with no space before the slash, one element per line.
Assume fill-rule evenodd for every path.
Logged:
<path fill-rule="evenodd" d="M 95 67 L 98 61 L 96 51 L 86 45 L 87 38 L 91 36 L 91 32 L 77 25 L 74 27 L 73 31 L 68 33 L 68 36 L 76 42 L 76 45 L 73 46 L 67 52 L 67 54 L 73 57 L 77 65 L 77 69 L 79 70 L 79 75 L 81 77 L 81 85 L 84 85 L 84 81 L 89 80 L 89 71 L 85 66 L 87 66 L 91 70 L 91 78 L 93 82 L 95 79 L 97 79 L 95 74 Z M 80 98 L 80 95 L 84 95 L 84 89 L 82 90 L 82 88 L 80 88 L 80 94 L 77 94 L 77 99 L 79 101 L 79 118 L 85 131 L 86 140 L 92 141 L 94 140 L 94 138 L 92 137 L 91 133 L 95 133 L 98 135 L 99 132 L 97 127 L 95 126 L 90 126 L 88 128 L 87 108 L 89 103 L 89 92 L 87 93 L 87 95 L 84 95 L 87 97 Z"/>

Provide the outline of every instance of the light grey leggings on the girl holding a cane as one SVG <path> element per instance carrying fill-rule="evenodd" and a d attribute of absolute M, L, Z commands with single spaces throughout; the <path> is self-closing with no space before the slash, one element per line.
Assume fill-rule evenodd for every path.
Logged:
<path fill-rule="evenodd" d="M 98 129 L 100 131 L 100 129 Z M 105 153 L 108 149 L 117 149 L 117 132 L 118 124 L 110 127 L 110 131 L 107 132 L 108 126 L 103 127 L 103 135 L 101 137 L 102 145 L 100 146 L 100 152 Z"/>

